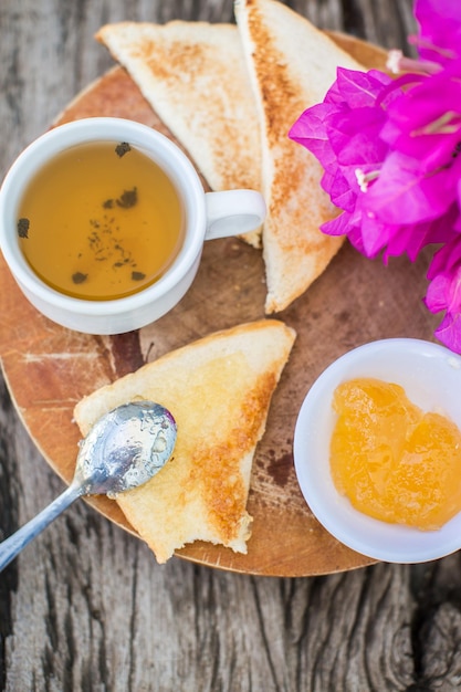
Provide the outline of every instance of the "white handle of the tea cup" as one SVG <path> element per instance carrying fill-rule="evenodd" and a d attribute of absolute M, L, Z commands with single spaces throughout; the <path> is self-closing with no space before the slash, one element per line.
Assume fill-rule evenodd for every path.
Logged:
<path fill-rule="evenodd" d="M 259 228 L 265 219 L 265 202 L 255 190 L 207 192 L 207 231 L 205 240 L 242 235 Z"/>

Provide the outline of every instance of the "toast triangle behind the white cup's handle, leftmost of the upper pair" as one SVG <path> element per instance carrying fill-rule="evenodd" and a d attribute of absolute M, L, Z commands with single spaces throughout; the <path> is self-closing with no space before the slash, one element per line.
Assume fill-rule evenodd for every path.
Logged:
<path fill-rule="evenodd" d="M 96 33 L 212 190 L 261 190 L 256 105 L 237 27 L 121 22 Z M 242 235 L 261 247 L 260 230 Z"/>

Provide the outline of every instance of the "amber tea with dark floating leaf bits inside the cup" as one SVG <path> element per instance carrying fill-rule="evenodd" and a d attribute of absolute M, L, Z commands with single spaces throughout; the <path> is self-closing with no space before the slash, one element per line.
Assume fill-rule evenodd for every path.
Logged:
<path fill-rule="evenodd" d="M 18 220 L 21 250 L 61 293 L 119 298 L 170 266 L 184 238 L 172 181 L 128 143 L 66 149 L 29 184 Z"/>

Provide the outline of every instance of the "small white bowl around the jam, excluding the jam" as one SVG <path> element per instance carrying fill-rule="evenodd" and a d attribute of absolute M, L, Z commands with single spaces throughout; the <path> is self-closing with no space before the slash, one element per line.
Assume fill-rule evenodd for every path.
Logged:
<path fill-rule="evenodd" d="M 461 513 L 439 531 L 419 531 L 371 518 L 335 489 L 329 440 L 336 387 L 355 377 L 401 385 L 423 410 L 437 410 L 461 428 L 461 357 L 443 346 L 411 338 L 373 342 L 333 363 L 314 382 L 301 407 L 294 434 L 294 463 L 301 491 L 323 526 L 368 557 L 389 563 L 423 563 L 461 547 Z M 461 478 L 460 478 L 461 482 Z"/>

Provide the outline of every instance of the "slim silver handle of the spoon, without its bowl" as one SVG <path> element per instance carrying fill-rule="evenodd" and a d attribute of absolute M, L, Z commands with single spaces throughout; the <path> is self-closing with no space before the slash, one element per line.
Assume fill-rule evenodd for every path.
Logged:
<path fill-rule="evenodd" d="M 0 572 L 14 559 L 35 536 L 38 536 L 53 520 L 56 518 L 82 495 L 82 487 L 70 485 L 51 504 L 42 510 L 34 518 L 24 524 L 9 538 L 0 543 Z"/>

